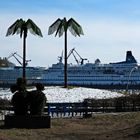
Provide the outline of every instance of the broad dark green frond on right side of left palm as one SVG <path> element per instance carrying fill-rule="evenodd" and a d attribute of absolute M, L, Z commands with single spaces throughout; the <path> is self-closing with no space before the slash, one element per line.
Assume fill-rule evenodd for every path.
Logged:
<path fill-rule="evenodd" d="M 27 20 L 26 27 L 33 35 L 38 35 L 40 37 L 43 37 L 40 28 L 31 19 Z"/>

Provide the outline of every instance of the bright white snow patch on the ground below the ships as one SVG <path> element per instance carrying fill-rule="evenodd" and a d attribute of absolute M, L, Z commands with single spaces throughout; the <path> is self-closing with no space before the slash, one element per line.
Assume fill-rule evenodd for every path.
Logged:
<path fill-rule="evenodd" d="M 85 98 L 103 99 L 122 96 L 120 93 L 108 90 L 83 87 L 65 89 L 58 86 L 45 87 L 44 93 L 48 102 L 82 102 Z M 9 89 L 0 90 L 1 98 L 11 99 L 12 95 Z"/>

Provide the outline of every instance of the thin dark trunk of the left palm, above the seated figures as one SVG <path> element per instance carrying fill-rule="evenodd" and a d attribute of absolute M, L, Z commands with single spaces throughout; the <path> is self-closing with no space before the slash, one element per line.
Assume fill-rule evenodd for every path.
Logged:
<path fill-rule="evenodd" d="M 26 79 L 26 35 L 23 36 L 23 79 Z"/>

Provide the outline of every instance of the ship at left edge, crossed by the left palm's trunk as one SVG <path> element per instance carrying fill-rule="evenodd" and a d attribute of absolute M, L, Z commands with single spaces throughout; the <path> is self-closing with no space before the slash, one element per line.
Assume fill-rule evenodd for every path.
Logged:
<path fill-rule="evenodd" d="M 44 72 L 44 67 L 26 67 L 26 79 L 28 84 L 33 84 L 40 79 Z M 16 83 L 16 79 L 22 77 L 22 66 L 16 66 L 6 57 L 0 58 L 0 87 L 9 87 Z"/>

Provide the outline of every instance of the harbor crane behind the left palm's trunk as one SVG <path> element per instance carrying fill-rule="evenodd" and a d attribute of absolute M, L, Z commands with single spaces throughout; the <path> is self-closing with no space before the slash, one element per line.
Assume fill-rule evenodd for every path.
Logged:
<path fill-rule="evenodd" d="M 23 58 L 17 53 L 17 52 L 14 52 L 14 53 L 12 53 L 12 54 L 10 54 L 8 57 L 7 57 L 7 59 L 9 59 L 9 58 L 11 58 L 11 57 L 14 57 L 15 59 L 16 59 L 16 61 L 22 66 L 23 64 L 22 64 L 22 62 L 18 59 L 18 57 L 20 58 L 20 59 L 22 59 L 23 60 Z M 28 65 L 28 62 L 30 62 L 31 60 L 26 60 L 25 61 L 25 63 L 26 63 L 26 66 Z"/>

